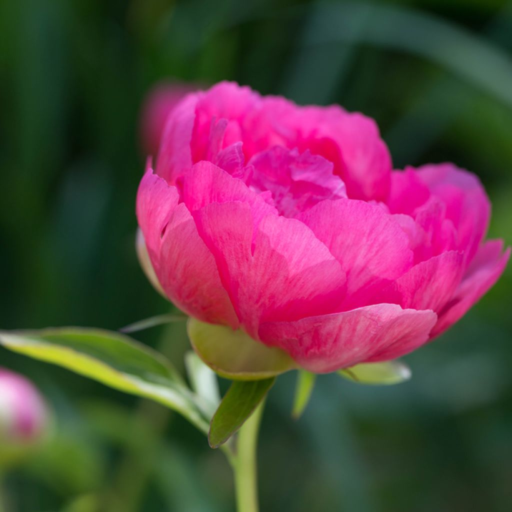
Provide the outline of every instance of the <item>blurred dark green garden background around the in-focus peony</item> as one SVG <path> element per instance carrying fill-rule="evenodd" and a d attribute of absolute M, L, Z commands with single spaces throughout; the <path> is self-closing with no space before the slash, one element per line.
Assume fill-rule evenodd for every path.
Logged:
<path fill-rule="evenodd" d="M 512 243 L 512 2 L 0 2 L 0 326 L 118 329 L 165 313 L 134 250 L 143 99 L 237 80 L 374 117 L 396 167 L 450 160 Z M 270 395 L 265 512 L 512 510 L 512 269 L 406 358 L 412 381 L 318 379 L 290 418 Z M 137 337 L 181 365 L 184 326 Z M 233 510 L 222 454 L 175 414 L 0 350 L 47 397 L 55 435 L 4 474 L 11 512 Z"/>

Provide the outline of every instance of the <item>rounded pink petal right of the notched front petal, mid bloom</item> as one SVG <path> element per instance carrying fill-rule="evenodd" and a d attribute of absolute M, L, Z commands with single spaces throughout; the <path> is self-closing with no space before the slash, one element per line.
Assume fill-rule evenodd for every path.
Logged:
<path fill-rule="evenodd" d="M 322 201 L 299 219 L 342 264 L 351 307 L 412 266 L 408 236 L 379 206 L 345 199 Z"/>

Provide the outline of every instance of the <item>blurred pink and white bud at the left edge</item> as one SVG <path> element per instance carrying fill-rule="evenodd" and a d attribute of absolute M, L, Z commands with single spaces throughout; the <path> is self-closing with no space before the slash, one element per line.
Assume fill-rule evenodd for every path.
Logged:
<path fill-rule="evenodd" d="M 0 445 L 36 441 L 46 425 L 46 405 L 32 383 L 0 369 Z"/>

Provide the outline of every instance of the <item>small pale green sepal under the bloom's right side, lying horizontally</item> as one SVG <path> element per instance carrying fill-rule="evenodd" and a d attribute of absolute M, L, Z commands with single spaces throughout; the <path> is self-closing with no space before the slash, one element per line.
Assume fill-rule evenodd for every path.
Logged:
<path fill-rule="evenodd" d="M 337 373 L 353 382 L 374 385 L 399 384 L 411 378 L 411 369 L 399 360 L 365 362 Z"/>

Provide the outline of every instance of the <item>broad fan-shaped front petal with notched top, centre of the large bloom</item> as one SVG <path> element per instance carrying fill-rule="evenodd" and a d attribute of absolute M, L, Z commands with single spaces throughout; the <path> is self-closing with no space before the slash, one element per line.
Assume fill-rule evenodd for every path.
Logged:
<path fill-rule="evenodd" d="M 309 228 L 267 215 L 254 229 L 247 203 L 212 203 L 194 214 L 215 255 L 221 279 L 241 323 L 258 337 L 260 322 L 334 311 L 345 291 L 345 273 Z"/>

